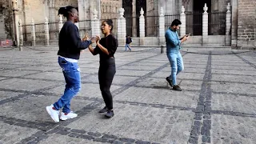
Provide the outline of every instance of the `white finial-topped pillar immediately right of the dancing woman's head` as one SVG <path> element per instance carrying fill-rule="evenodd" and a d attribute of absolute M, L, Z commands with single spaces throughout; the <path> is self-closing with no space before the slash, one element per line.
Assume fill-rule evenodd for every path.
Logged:
<path fill-rule="evenodd" d="M 126 18 L 123 17 L 125 9 L 119 9 L 118 18 L 118 43 L 119 46 L 125 46 L 126 44 Z"/>

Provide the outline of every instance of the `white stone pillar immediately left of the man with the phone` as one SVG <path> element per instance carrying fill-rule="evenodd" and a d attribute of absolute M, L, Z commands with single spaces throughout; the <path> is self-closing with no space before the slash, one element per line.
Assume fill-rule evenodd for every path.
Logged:
<path fill-rule="evenodd" d="M 159 45 L 165 44 L 165 15 L 163 14 L 163 8 L 160 9 L 159 15 Z"/>

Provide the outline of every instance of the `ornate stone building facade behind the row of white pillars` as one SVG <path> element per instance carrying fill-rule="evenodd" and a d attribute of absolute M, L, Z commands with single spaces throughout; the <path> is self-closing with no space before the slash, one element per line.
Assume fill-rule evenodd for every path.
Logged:
<path fill-rule="evenodd" d="M 15 0 L 14 0 L 15 1 Z M 58 22 L 58 9 L 62 6 L 78 7 L 80 17 L 80 27 L 90 29 L 90 20 L 93 19 L 94 10 L 98 11 L 98 19 L 112 18 L 114 22 L 118 18 L 118 10 L 125 9 L 126 33 L 133 37 L 139 36 L 138 17 L 141 8 L 145 11 L 146 17 L 146 37 L 158 36 L 158 15 L 160 8 L 166 15 L 166 27 L 176 18 L 176 14 L 181 14 L 182 6 L 186 10 L 186 32 L 200 35 L 202 32 L 202 18 L 195 15 L 202 14 L 202 7 L 206 3 L 208 6 L 209 23 L 218 22 L 218 25 L 225 23 L 225 19 L 214 16 L 215 13 L 225 12 L 226 6 L 231 6 L 231 30 L 230 46 L 254 47 L 256 46 L 256 1 L 255 0 L 16 0 L 18 2 L 18 18 L 23 25 L 30 25 L 31 19 L 35 24 L 44 23 L 45 18 L 50 23 Z M 14 14 L 10 0 L 0 2 L 0 39 L 14 38 Z M 179 18 L 179 17 L 177 17 Z M 223 20 L 223 21 L 222 21 Z M 169 22 L 170 21 L 170 22 Z M 195 22 L 199 23 L 195 23 Z M 201 23 L 200 23 L 201 22 Z M 50 30 L 56 27 L 50 25 Z M 199 27 L 195 27 L 199 25 Z M 192 26 L 192 27 L 191 27 Z M 201 27 L 200 27 L 201 26 Z M 222 28 L 222 30 L 220 30 Z M 50 39 L 58 36 L 51 34 Z M 209 34 L 225 34 L 225 25 L 212 26 Z"/>

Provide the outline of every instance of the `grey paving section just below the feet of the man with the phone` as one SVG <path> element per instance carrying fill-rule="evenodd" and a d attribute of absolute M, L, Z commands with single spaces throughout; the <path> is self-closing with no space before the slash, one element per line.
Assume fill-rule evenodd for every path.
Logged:
<path fill-rule="evenodd" d="M 158 95 L 156 97 L 156 95 Z M 159 104 L 159 106 L 182 106 L 185 108 L 196 108 L 198 92 L 182 91 L 180 93 L 173 90 L 150 89 L 130 87 L 114 99 L 122 102 L 141 102 L 147 104 Z M 165 106 L 163 106 L 165 107 Z"/>

